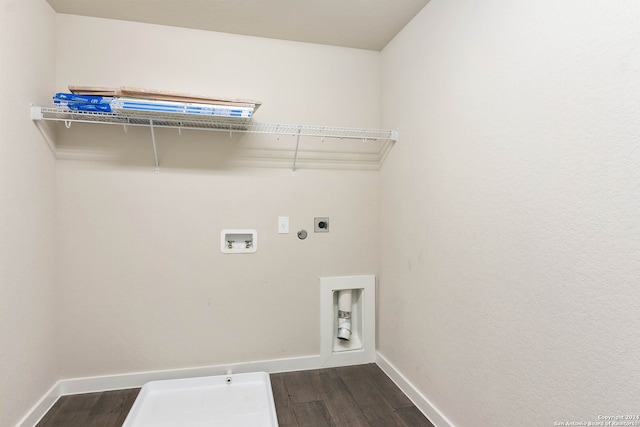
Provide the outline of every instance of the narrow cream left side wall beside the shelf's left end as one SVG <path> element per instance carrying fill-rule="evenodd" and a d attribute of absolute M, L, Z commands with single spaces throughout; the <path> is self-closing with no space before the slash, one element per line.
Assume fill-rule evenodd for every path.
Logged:
<path fill-rule="evenodd" d="M 55 157 L 29 119 L 54 87 L 55 15 L 0 2 L 0 426 L 12 426 L 57 376 Z"/>

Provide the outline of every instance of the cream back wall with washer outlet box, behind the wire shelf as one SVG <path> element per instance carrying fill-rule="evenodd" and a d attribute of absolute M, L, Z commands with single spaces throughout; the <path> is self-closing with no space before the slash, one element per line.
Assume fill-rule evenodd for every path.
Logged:
<path fill-rule="evenodd" d="M 379 125 L 379 53 L 67 15 L 57 39 L 59 90 L 245 97 L 264 103 L 257 121 Z M 156 139 L 159 174 L 148 129 L 58 133 L 64 377 L 318 355 L 319 278 L 377 273 L 378 173 L 233 165 L 251 135 Z M 314 234 L 314 216 L 331 231 Z M 257 252 L 221 253 L 228 228 L 256 229 Z"/>

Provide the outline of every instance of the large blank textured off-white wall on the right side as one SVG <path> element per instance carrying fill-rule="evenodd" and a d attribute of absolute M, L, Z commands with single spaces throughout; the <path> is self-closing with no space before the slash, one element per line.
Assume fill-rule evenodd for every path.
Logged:
<path fill-rule="evenodd" d="M 383 51 L 379 351 L 454 425 L 638 414 L 639 72 L 635 1 L 433 0 Z"/>

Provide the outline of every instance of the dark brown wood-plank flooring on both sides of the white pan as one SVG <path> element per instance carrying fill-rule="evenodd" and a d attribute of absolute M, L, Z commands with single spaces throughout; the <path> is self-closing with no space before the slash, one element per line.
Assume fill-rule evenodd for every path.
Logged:
<path fill-rule="evenodd" d="M 270 377 L 280 427 L 433 427 L 375 364 Z M 139 392 L 62 396 L 36 427 L 121 427 Z"/>

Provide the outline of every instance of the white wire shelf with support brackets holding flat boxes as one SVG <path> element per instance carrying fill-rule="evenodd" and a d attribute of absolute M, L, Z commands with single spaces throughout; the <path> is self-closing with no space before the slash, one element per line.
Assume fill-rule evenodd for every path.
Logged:
<path fill-rule="evenodd" d="M 123 114 L 122 112 L 86 112 L 72 111 L 58 107 L 31 107 L 31 119 L 34 121 L 56 121 L 64 122 L 67 128 L 72 123 L 97 123 L 121 126 L 143 126 L 151 129 L 153 151 L 156 163 L 156 172 L 159 171 L 158 156 L 156 150 L 154 128 L 172 129 L 196 129 L 211 130 L 219 132 L 235 132 L 268 134 L 268 135 L 292 135 L 297 138 L 296 149 L 293 156 L 292 171 L 296 169 L 296 159 L 298 155 L 298 144 L 300 137 L 316 138 L 337 138 L 347 140 L 380 141 L 384 144 L 381 150 L 382 157 L 386 156 L 391 146 L 398 139 L 397 130 L 368 129 L 368 128 L 346 128 L 331 126 L 294 125 L 281 123 L 258 123 L 247 118 L 226 118 L 210 116 L 194 116 L 186 114 L 171 113 L 147 113 L 132 112 Z M 382 160 L 382 159 L 381 159 Z"/>

